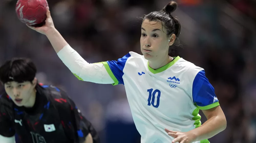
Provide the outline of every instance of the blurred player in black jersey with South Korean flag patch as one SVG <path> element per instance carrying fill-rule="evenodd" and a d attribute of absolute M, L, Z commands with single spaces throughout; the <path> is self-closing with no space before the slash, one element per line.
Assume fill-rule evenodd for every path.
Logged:
<path fill-rule="evenodd" d="M 31 60 L 14 58 L 0 67 L 0 143 L 98 143 L 98 135 L 62 90 L 37 83 Z"/>

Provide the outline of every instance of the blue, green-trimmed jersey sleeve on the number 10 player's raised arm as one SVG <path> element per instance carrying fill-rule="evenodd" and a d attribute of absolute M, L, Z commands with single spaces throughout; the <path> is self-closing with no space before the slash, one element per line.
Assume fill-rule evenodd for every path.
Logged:
<path fill-rule="evenodd" d="M 130 53 L 128 53 L 125 56 L 123 56 L 123 58 L 118 59 L 118 61 L 107 61 L 105 63 L 103 62 L 107 72 L 115 82 L 113 85 L 124 84 L 124 81 L 122 78 L 124 75 L 123 69 L 127 59 L 130 56 L 131 56 Z"/>

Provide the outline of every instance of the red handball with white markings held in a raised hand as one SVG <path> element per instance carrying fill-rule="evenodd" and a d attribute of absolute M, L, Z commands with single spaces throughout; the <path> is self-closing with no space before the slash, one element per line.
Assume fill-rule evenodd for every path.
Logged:
<path fill-rule="evenodd" d="M 36 26 L 45 22 L 47 6 L 46 0 L 18 0 L 15 11 L 21 22 Z"/>

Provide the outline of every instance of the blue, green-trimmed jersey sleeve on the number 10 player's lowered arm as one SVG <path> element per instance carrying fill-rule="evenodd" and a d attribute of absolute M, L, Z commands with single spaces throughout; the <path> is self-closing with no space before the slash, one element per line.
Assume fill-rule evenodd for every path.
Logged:
<path fill-rule="evenodd" d="M 214 88 L 206 78 L 204 70 L 198 72 L 193 81 L 192 97 L 193 102 L 201 110 L 211 109 L 219 105 Z"/>

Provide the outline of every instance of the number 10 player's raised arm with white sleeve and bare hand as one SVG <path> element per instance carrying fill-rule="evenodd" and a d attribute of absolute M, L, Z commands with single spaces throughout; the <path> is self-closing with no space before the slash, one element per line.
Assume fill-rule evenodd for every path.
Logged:
<path fill-rule="evenodd" d="M 114 83 L 114 80 L 109 76 L 103 63 L 90 64 L 86 62 L 70 47 L 70 45 L 68 45 L 67 41 L 54 27 L 49 7 L 47 7 L 47 19 L 44 26 L 27 26 L 47 36 L 59 58 L 79 80 L 102 84 Z"/>

